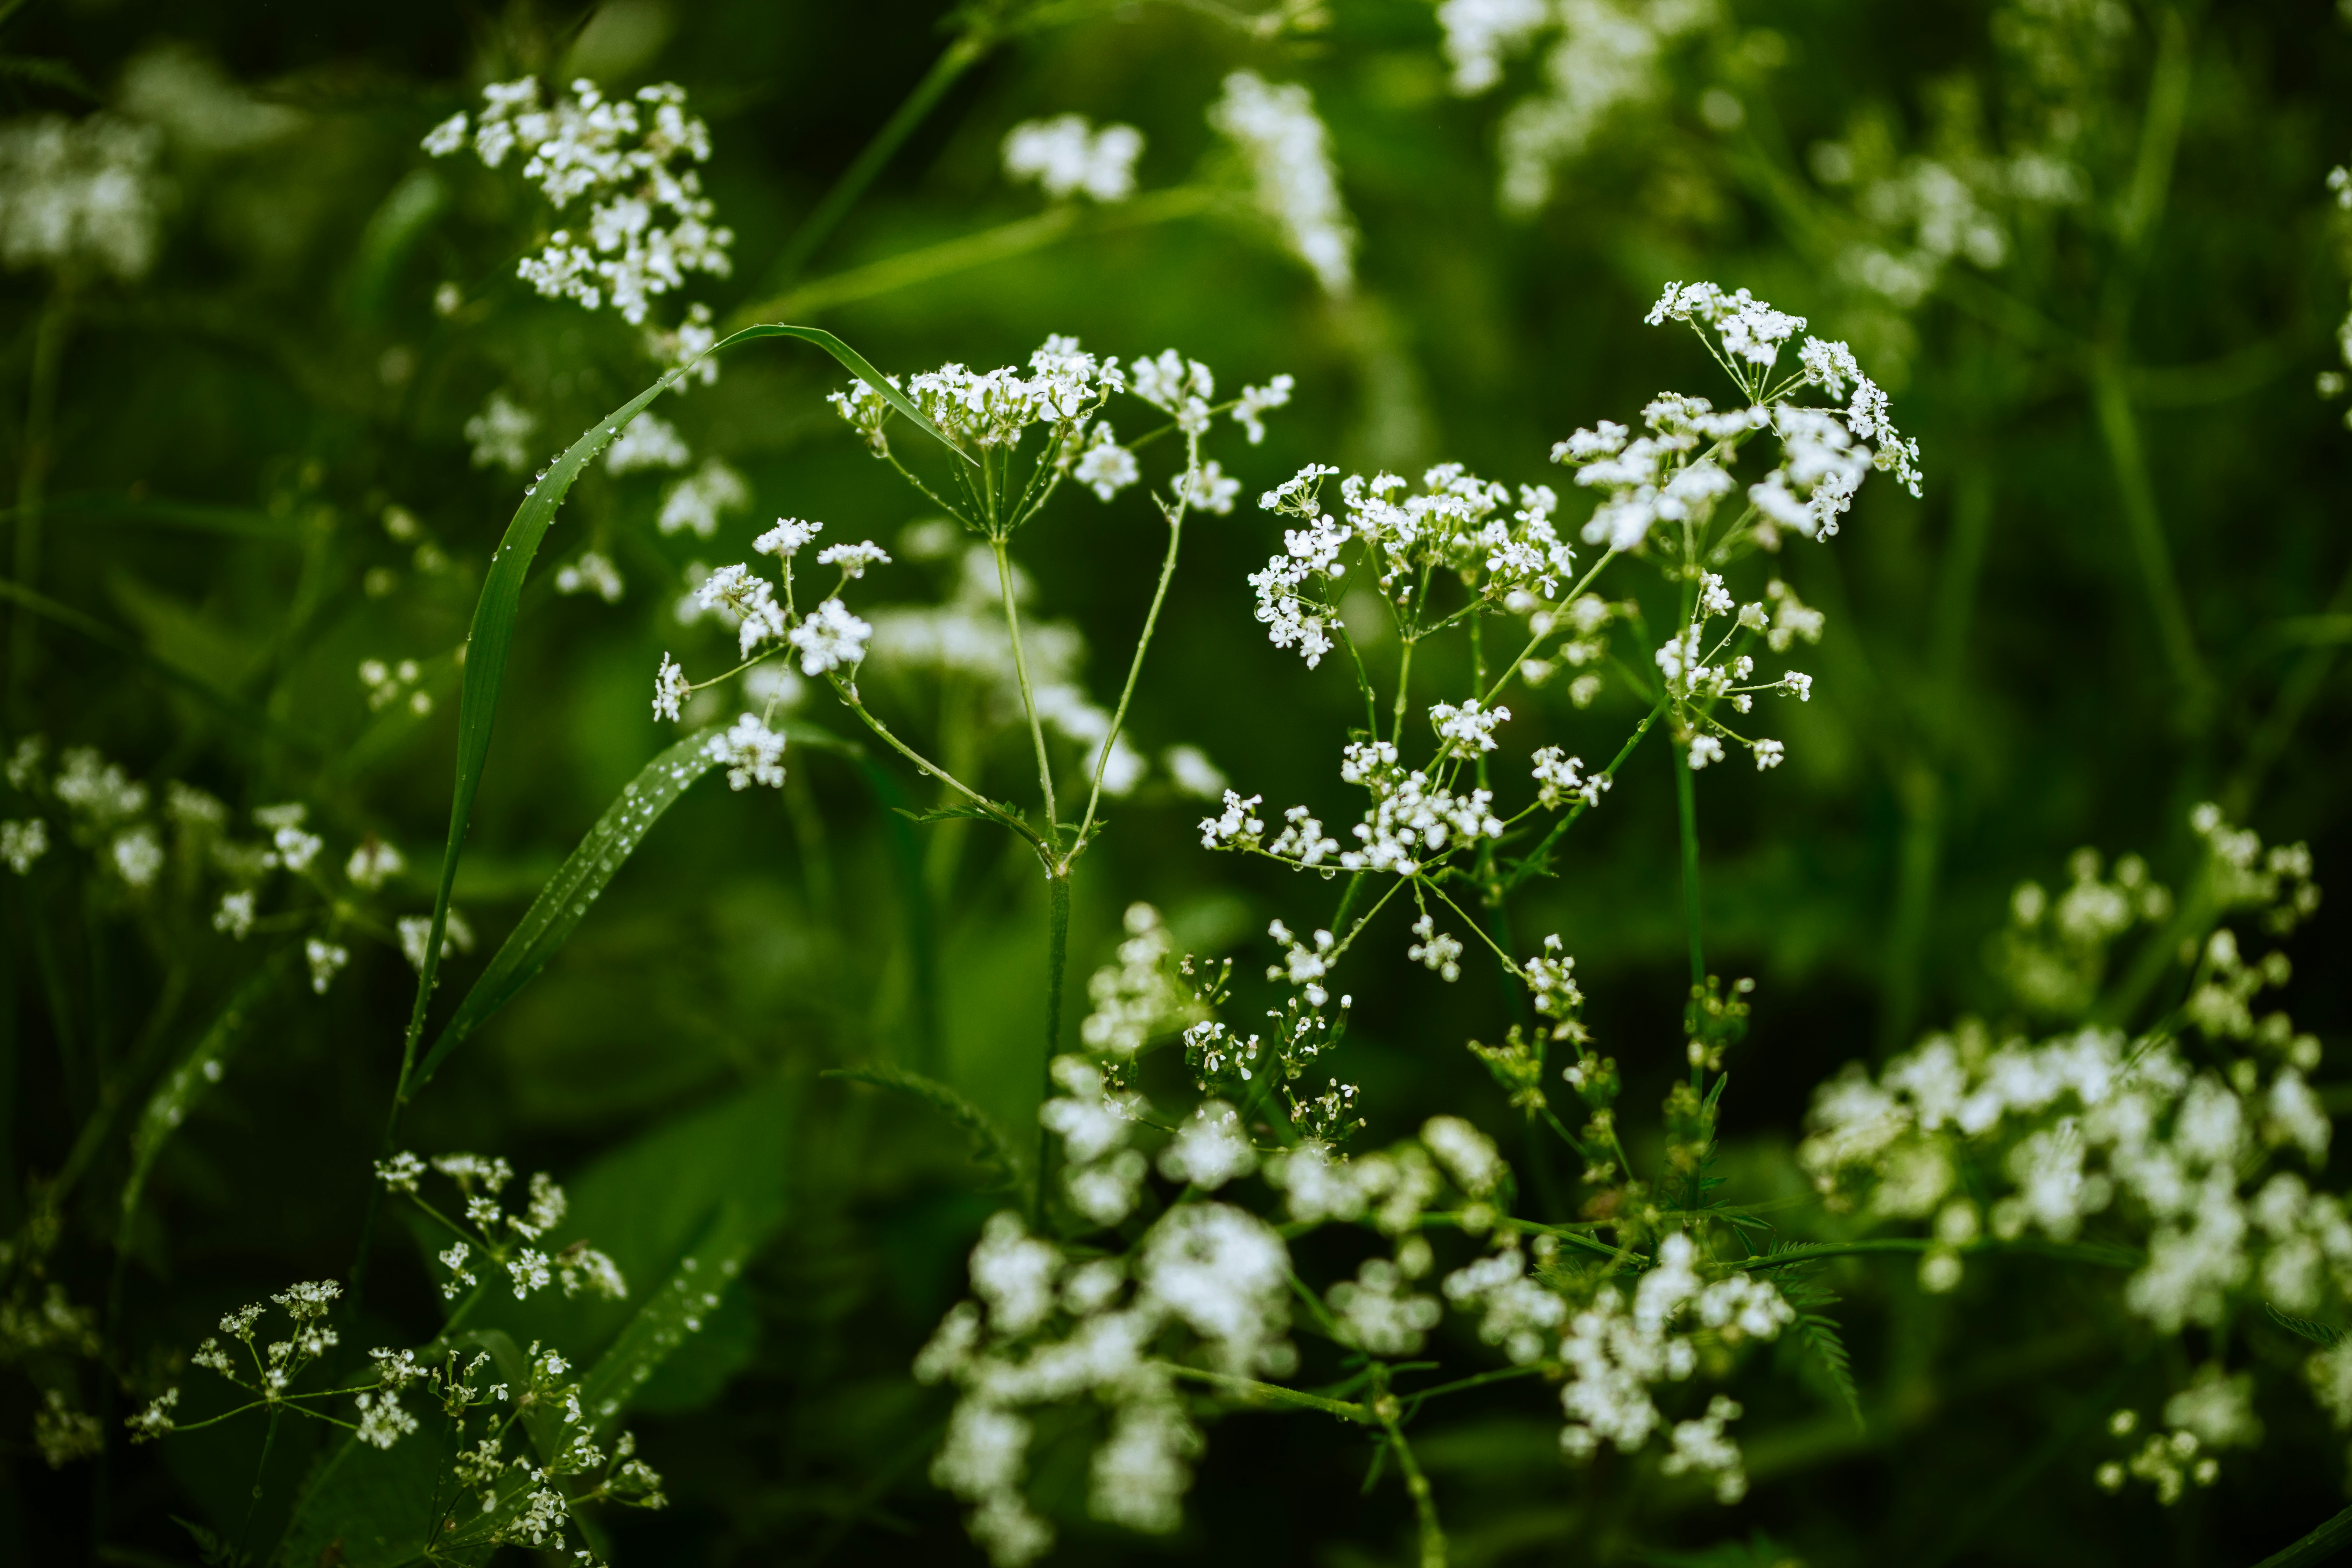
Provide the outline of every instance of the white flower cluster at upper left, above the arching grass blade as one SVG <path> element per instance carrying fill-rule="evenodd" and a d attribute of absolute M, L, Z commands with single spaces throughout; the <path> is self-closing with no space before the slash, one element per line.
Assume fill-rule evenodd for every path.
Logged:
<path fill-rule="evenodd" d="M 734 230 L 713 226 L 713 205 L 691 165 L 710 160 L 710 127 L 687 113 L 673 82 L 640 87 L 635 101 L 604 99 L 595 82 L 572 82 L 569 99 L 541 101 L 536 78 L 492 82 L 485 108 L 449 115 L 426 136 L 433 158 L 466 146 L 492 169 L 520 148 L 522 176 L 555 212 L 588 202 L 581 233 L 557 228 L 517 275 L 548 299 L 612 308 L 642 324 L 661 294 L 687 273 L 724 277 Z"/>

